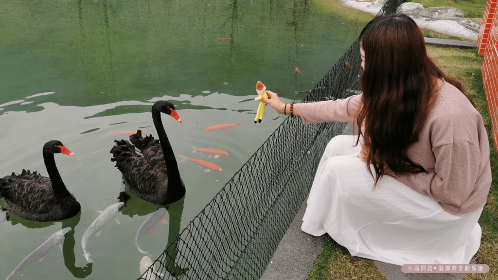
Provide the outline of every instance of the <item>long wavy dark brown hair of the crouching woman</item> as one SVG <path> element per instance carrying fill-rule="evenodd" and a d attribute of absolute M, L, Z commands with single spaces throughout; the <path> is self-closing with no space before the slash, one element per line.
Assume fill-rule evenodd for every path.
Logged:
<path fill-rule="evenodd" d="M 362 30 L 359 41 L 365 51 L 365 69 L 363 108 L 357 121 L 365 126 L 365 133 L 359 128 L 359 134 L 368 147 L 364 157 L 375 188 L 386 166 L 397 175 L 425 171 L 408 157 L 408 148 L 418 141 L 435 104 L 438 80 L 465 91 L 427 56 L 422 32 L 409 16 L 376 17 Z"/>

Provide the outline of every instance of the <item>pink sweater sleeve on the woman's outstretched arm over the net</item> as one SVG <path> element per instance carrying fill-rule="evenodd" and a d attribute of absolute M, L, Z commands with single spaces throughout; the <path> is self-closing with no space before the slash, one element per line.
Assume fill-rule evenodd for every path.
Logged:
<path fill-rule="evenodd" d="M 362 95 L 353 95 L 346 99 L 321 101 L 315 103 L 294 104 L 303 124 L 325 122 L 354 122 L 361 109 Z"/>

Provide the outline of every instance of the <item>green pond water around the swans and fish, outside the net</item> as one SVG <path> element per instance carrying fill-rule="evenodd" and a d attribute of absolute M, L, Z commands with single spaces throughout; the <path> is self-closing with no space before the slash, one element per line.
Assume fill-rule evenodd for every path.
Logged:
<path fill-rule="evenodd" d="M 294 92 L 319 82 L 358 36 L 358 22 L 317 13 L 312 2 L 300 0 L 2 0 L 0 177 L 23 168 L 47 175 L 42 146 L 61 140 L 75 156 L 56 154 L 57 167 L 82 211 L 53 223 L 9 213 L 0 223 L 0 279 L 67 226 L 73 231 L 63 253 L 54 248 L 14 279 L 138 278 L 142 255 L 133 240 L 156 205 L 136 197 L 118 214 L 119 225 L 111 221 L 90 238 L 95 263 L 83 257 L 83 233 L 122 188 L 109 135 L 140 128 L 156 136 L 151 105 L 169 100 L 183 119 L 163 116 L 175 154 L 223 169 L 179 163 L 187 188 L 174 206 L 181 221 L 166 215 L 170 223 L 157 224 L 154 235 L 140 241 L 155 260 L 282 122 L 267 108 L 254 124 L 256 82 L 284 101 L 302 99 Z M 204 131 L 239 122 L 243 127 Z M 192 146 L 229 155 L 208 158 L 192 153 Z"/>

